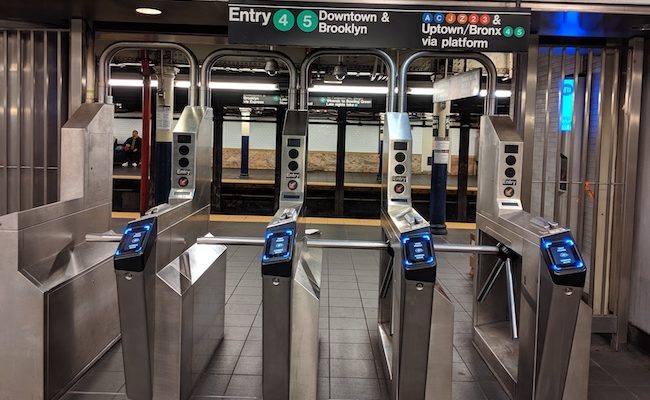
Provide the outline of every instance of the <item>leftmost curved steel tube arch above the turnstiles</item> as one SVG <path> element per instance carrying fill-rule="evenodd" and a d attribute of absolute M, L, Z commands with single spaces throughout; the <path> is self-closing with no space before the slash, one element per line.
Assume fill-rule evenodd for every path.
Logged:
<path fill-rule="evenodd" d="M 199 63 L 196 56 L 187 47 L 178 43 L 168 42 L 116 42 L 108 46 L 99 57 L 99 79 L 97 80 L 98 90 L 97 99 L 100 103 L 105 101 L 106 96 L 110 95 L 108 78 L 110 76 L 110 65 L 113 57 L 123 50 L 140 50 L 140 49 L 169 49 L 180 51 L 187 57 L 190 63 L 190 93 L 188 104 L 196 105 L 196 89 L 198 86 Z"/>

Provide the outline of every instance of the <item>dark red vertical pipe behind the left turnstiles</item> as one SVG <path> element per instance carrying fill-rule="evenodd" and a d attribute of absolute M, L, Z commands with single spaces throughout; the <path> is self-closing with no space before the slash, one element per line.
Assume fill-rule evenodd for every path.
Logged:
<path fill-rule="evenodd" d="M 151 71 L 149 52 L 144 50 L 142 57 L 142 154 L 140 154 L 140 215 L 149 209 L 149 155 L 151 142 Z"/>

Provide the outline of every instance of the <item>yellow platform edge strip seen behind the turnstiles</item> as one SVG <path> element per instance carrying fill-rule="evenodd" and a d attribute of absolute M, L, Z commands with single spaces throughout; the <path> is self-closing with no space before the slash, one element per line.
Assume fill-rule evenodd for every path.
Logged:
<path fill-rule="evenodd" d="M 140 214 L 135 212 L 113 212 L 115 219 L 135 219 Z M 211 214 L 210 221 L 212 222 L 270 222 L 271 217 L 266 215 L 224 215 L 224 214 Z M 358 218 L 323 218 L 323 217 L 307 217 L 305 222 L 314 225 L 353 225 L 353 226 L 380 226 L 378 219 L 358 219 Z M 476 224 L 465 222 L 447 222 L 448 229 L 465 229 L 474 230 Z"/>

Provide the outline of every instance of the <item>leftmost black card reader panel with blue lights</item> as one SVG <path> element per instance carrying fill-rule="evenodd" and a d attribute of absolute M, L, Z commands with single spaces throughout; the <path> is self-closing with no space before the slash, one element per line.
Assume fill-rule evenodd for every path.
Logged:
<path fill-rule="evenodd" d="M 155 217 L 130 222 L 113 256 L 115 269 L 144 271 L 156 236 Z"/>

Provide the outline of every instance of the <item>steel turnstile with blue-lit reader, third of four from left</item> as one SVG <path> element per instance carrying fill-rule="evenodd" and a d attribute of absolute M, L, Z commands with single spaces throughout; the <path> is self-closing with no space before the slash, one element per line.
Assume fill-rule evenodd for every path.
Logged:
<path fill-rule="evenodd" d="M 451 399 L 454 307 L 436 284 L 427 221 L 411 207 L 407 113 L 387 113 L 378 324 L 390 398 Z"/>

